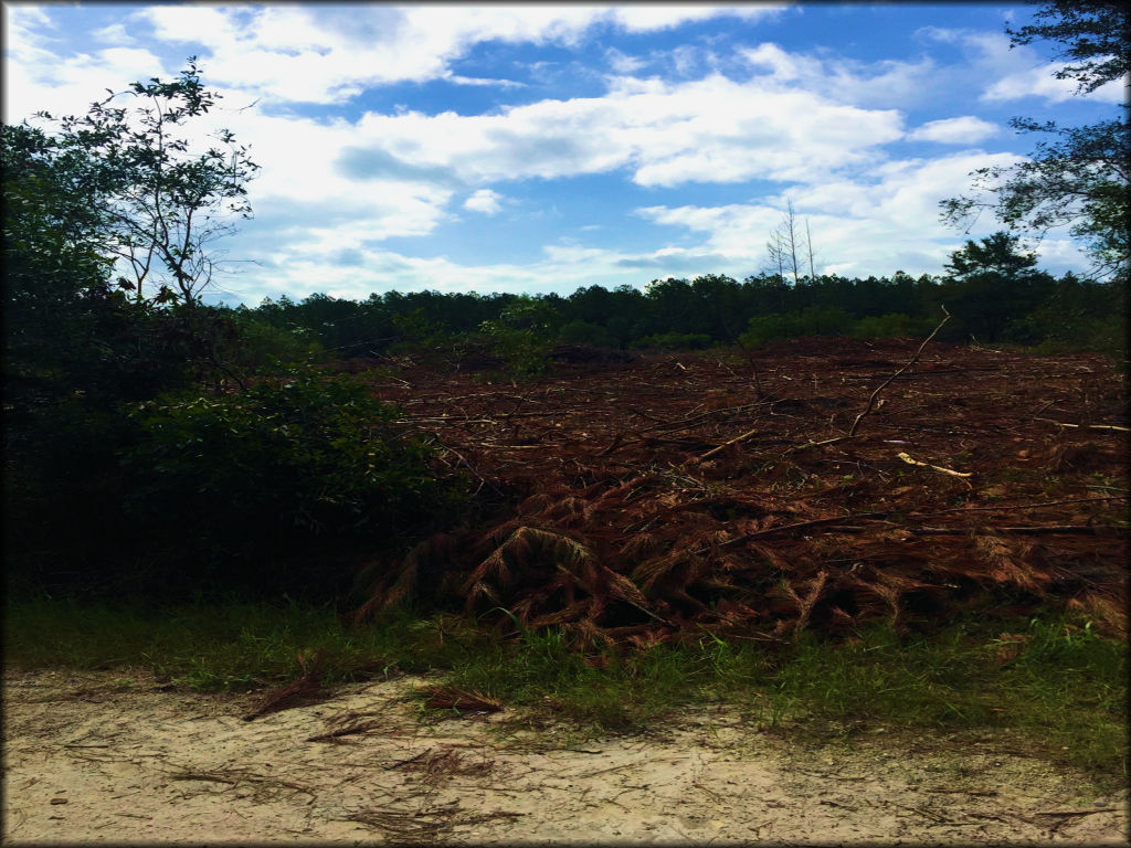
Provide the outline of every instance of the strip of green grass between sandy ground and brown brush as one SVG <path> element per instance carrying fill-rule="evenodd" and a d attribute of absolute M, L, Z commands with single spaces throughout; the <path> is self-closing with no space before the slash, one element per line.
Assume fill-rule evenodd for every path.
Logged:
<path fill-rule="evenodd" d="M 501 639 L 407 611 L 351 628 L 333 609 L 296 604 L 154 611 L 38 599 L 9 600 L 5 616 L 9 666 L 144 668 L 201 691 L 278 685 L 301 672 L 300 654 L 318 651 L 329 684 L 434 672 L 529 708 L 535 724 L 639 732 L 690 704 L 728 702 L 789 734 L 1009 728 L 1035 754 L 1126 778 L 1126 648 L 1079 616 L 969 617 L 930 637 L 877 625 L 838 644 L 804 635 L 776 652 L 705 632 L 588 661 L 560 631 Z"/>

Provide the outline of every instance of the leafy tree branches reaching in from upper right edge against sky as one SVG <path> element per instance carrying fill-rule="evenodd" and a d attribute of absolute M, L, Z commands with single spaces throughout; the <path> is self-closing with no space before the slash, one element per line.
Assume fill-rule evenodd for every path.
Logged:
<path fill-rule="evenodd" d="M 1128 72 L 1131 28 L 1123 3 L 1106 0 L 1052 0 L 1036 12 L 1039 23 L 1008 29 L 1011 46 L 1042 38 L 1059 45 L 1059 59 L 1076 63 L 1055 71 L 1059 79 L 1079 81 L 1087 94 Z M 1126 110 L 1128 104 L 1122 105 Z M 1009 167 L 972 172 L 974 188 L 991 198 L 962 196 L 941 202 L 942 219 L 968 226 L 985 209 L 1010 230 L 1038 233 L 1057 227 L 1081 239 L 1093 256 L 1098 276 L 1126 274 L 1131 239 L 1126 222 L 1131 132 L 1126 113 L 1121 119 L 1088 127 L 1059 127 L 1053 121 L 1025 118 L 1011 121 L 1020 132 L 1054 137 L 1041 141 L 1027 162 Z"/>

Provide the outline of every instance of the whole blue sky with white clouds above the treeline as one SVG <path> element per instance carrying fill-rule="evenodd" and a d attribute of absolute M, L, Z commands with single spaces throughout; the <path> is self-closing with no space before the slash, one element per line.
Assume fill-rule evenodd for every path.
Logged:
<path fill-rule="evenodd" d="M 947 227 L 939 201 L 1033 152 L 1010 118 L 1123 99 L 1076 96 L 1055 45 L 1010 47 L 1037 8 L 6 2 L 3 120 L 198 57 L 222 99 L 196 140 L 230 129 L 261 168 L 215 245 L 206 300 L 231 305 L 741 280 L 791 204 L 818 274 L 941 275 L 1001 228 Z M 1030 243 L 1053 274 L 1089 267 L 1063 232 Z"/>

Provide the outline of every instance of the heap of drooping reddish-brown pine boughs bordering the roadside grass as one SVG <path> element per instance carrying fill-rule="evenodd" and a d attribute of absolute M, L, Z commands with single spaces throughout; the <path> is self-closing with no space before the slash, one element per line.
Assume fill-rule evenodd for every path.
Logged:
<path fill-rule="evenodd" d="M 486 530 L 416 545 L 361 615 L 412 596 L 468 615 L 495 611 L 502 625 L 559 626 L 581 644 L 653 642 L 703 628 L 775 641 L 875 620 L 899 629 L 987 594 L 1083 598 L 1120 620 L 1102 565 L 1124 547 L 1119 530 L 1047 528 L 1053 548 L 1042 525 L 940 520 L 953 516 L 926 523 L 929 516 L 896 510 L 806 514 L 765 495 L 701 496 L 691 481 L 663 474 L 538 493 Z M 1077 555 L 1065 556 L 1065 545 Z M 1096 566 L 1081 568 L 1089 559 Z"/>

